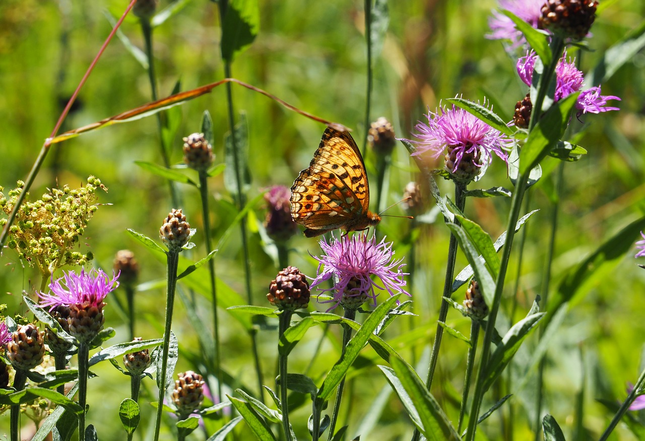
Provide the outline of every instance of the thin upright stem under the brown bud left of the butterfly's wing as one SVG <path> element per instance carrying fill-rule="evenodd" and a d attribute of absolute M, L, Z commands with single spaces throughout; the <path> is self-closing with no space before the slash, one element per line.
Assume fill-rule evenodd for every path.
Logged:
<path fill-rule="evenodd" d="M 199 171 L 199 196 L 202 203 L 202 216 L 204 218 L 204 237 L 206 239 L 206 253 L 210 254 L 213 245 L 210 237 L 210 210 L 208 208 L 208 174 L 205 170 Z M 213 344 L 215 346 L 215 375 L 217 375 L 217 399 L 222 400 L 222 365 L 219 345 L 219 319 L 217 318 L 217 277 L 215 273 L 215 259 L 208 261 L 208 274 L 210 276 L 210 292 L 213 302 Z"/>

